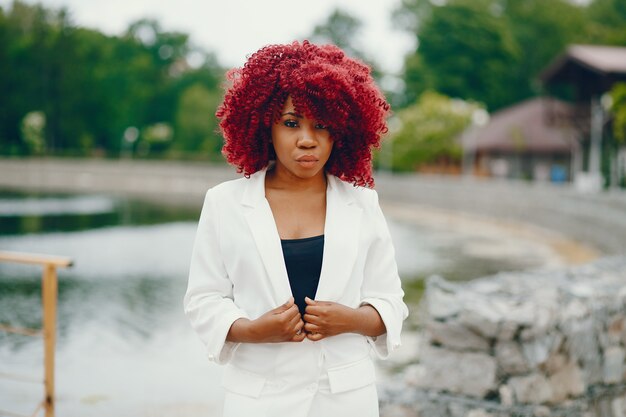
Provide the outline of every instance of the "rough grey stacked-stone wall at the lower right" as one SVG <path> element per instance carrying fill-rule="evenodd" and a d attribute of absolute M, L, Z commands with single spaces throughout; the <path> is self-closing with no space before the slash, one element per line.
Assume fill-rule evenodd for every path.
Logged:
<path fill-rule="evenodd" d="M 626 257 L 466 283 L 431 277 L 416 363 L 383 415 L 626 416 Z"/>

